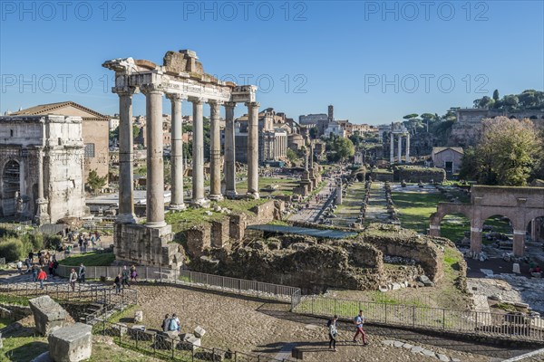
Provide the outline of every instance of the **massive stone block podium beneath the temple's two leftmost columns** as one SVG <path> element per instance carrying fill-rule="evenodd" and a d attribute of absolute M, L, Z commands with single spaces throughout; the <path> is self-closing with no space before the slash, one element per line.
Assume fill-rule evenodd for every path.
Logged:
<path fill-rule="evenodd" d="M 140 224 L 115 224 L 113 253 L 115 259 L 139 265 L 179 269 L 184 252 L 180 244 L 171 243 L 171 226 L 147 227 Z"/>

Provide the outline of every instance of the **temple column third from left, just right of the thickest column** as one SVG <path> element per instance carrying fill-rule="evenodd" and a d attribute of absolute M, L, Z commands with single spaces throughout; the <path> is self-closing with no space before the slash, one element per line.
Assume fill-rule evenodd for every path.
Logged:
<path fill-rule="evenodd" d="M 170 209 L 185 210 L 183 202 L 183 139 L 182 127 L 183 119 L 181 116 L 181 102 L 183 97 L 180 94 L 167 94 L 172 105 L 171 138 L 172 148 L 170 153 L 171 162 L 171 198 Z"/>

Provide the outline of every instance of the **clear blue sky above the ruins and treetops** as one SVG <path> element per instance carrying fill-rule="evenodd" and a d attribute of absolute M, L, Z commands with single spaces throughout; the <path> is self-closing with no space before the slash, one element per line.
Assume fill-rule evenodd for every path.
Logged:
<path fill-rule="evenodd" d="M 258 78 L 261 108 L 294 119 L 333 104 L 337 119 L 379 124 L 471 107 L 495 89 L 544 90 L 543 1 L 69 3 L 0 2 L 2 113 L 63 100 L 115 113 L 102 62 L 161 63 L 180 49 L 219 78 Z"/>

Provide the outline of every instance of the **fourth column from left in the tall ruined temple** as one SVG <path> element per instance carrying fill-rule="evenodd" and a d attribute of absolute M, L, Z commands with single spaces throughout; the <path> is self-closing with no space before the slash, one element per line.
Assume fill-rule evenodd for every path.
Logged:
<path fill-rule="evenodd" d="M 196 207 L 207 205 L 204 197 L 204 100 L 190 100 L 193 104 L 193 167 L 192 167 L 192 199 Z"/>

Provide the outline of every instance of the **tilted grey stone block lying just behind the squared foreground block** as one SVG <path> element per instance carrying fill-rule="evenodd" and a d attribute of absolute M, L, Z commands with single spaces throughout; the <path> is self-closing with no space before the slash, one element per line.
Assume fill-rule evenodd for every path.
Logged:
<path fill-rule="evenodd" d="M 48 336 L 68 324 L 66 310 L 48 295 L 28 300 L 28 303 L 34 314 L 36 331 L 41 335 Z"/>

